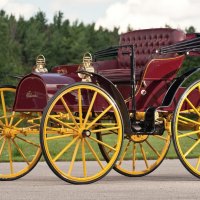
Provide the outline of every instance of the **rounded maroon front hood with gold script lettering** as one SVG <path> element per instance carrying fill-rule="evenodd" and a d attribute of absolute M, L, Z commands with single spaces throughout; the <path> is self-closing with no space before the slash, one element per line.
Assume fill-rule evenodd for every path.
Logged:
<path fill-rule="evenodd" d="M 32 73 L 18 84 L 15 111 L 43 111 L 48 100 L 63 86 L 74 83 L 64 74 Z"/>

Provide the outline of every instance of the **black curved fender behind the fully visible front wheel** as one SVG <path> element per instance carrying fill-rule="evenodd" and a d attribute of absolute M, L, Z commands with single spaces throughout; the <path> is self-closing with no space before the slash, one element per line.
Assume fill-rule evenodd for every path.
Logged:
<path fill-rule="evenodd" d="M 86 71 L 80 71 L 79 73 L 89 75 L 93 83 L 95 84 L 98 83 L 104 90 L 106 90 L 113 97 L 122 114 L 124 132 L 127 134 L 131 133 L 132 130 L 131 130 L 128 108 L 124 102 L 124 98 L 122 97 L 119 90 L 115 87 L 115 85 L 110 80 L 97 73 L 86 72 Z"/>

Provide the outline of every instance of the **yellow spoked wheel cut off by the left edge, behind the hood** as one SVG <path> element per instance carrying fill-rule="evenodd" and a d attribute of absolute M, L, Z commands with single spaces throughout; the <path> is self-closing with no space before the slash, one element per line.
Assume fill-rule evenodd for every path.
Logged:
<path fill-rule="evenodd" d="M 16 89 L 0 87 L 0 180 L 14 180 L 32 170 L 41 157 L 40 116 L 12 110 Z"/>

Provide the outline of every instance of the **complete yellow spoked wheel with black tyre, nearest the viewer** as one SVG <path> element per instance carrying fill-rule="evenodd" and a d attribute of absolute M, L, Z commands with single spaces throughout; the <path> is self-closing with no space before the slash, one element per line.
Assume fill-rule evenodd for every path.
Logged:
<path fill-rule="evenodd" d="M 109 120 L 110 117 L 115 122 Z M 103 122 L 102 122 L 103 121 Z M 104 125 L 104 128 L 101 125 Z M 41 123 L 45 160 L 62 180 L 91 183 L 105 176 L 115 164 L 123 141 L 120 111 L 99 86 L 76 83 L 61 89 L 48 103 Z M 102 142 L 97 134 L 102 134 Z M 99 144 L 111 152 L 109 162 Z"/>

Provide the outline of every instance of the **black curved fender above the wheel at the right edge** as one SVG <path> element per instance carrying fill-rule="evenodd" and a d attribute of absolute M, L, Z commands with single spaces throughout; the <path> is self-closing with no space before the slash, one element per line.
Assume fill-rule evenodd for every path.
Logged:
<path fill-rule="evenodd" d="M 189 71 L 187 71 L 185 74 L 183 74 L 182 76 L 176 78 L 174 80 L 174 82 L 172 83 L 172 85 L 169 87 L 163 102 L 162 102 L 162 106 L 161 107 L 167 107 L 170 106 L 170 104 L 172 103 L 178 89 L 195 73 L 200 72 L 200 67 L 191 69 Z"/>

